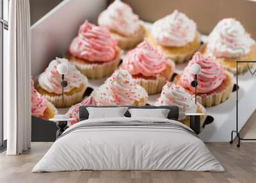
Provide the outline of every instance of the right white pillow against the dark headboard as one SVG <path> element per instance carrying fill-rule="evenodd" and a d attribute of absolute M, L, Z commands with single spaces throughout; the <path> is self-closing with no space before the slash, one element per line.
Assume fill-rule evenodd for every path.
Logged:
<path fill-rule="evenodd" d="M 143 118 L 167 118 L 170 109 L 128 109 L 131 113 L 131 118 L 143 117 Z"/>

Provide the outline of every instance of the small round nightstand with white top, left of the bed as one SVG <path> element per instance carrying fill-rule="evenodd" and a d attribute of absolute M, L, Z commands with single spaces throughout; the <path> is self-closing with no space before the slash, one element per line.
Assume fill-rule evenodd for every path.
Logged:
<path fill-rule="evenodd" d="M 56 139 L 61 136 L 61 134 L 68 128 L 68 122 L 76 120 L 74 118 L 68 118 L 67 115 L 55 115 L 54 118 L 51 118 L 50 121 L 56 122 L 58 131 L 56 132 Z"/>

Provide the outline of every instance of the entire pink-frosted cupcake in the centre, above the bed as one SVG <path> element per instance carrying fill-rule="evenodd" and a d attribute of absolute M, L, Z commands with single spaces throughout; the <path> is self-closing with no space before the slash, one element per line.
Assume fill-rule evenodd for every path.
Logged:
<path fill-rule="evenodd" d="M 128 70 L 135 83 L 152 95 L 161 92 L 170 81 L 175 63 L 163 51 L 144 41 L 127 53 L 120 68 Z"/>

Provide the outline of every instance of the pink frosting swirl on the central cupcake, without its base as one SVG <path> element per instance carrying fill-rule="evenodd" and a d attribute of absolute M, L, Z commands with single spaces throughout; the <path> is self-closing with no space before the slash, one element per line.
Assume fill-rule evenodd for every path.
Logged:
<path fill-rule="evenodd" d="M 152 47 L 147 41 L 129 51 L 122 63 L 122 68 L 132 75 L 156 76 L 166 68 L 168 58 L 160 49 Z"/>

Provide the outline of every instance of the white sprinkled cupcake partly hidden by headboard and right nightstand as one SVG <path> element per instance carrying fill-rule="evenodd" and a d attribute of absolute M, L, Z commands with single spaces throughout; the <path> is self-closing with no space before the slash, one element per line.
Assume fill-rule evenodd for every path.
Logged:
<path fill-rule="evenodd" d="M 199 102 L 195 104 L 195 99 L 182 86 L 169 82 L 164 85 L 161 96 L 157 99 L 155 106 L 178 106 L 179 122 L 189 127 L 189 116 L 186 116 L 186 113 L 206 113 L 204 106 Z M 200 127 L 204 125 L 205 118 L 205 115 L 200 116 Z"/>

